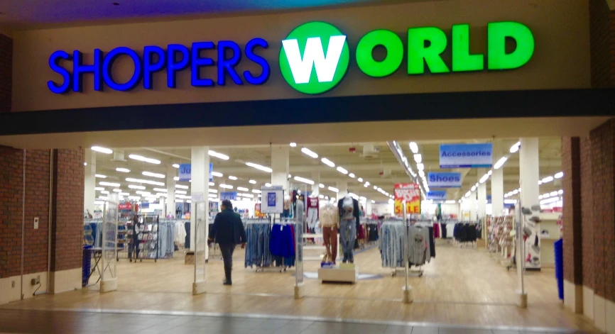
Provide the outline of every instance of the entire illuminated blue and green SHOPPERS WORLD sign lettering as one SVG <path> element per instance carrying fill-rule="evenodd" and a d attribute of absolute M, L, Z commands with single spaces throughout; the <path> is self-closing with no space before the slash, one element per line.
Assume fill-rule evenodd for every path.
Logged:
<path fill-rule="evenodd" d="M 534 53 L 534 37 L 530 28 L 522 23 L 506 21 L 487 24 L 486 55 L 470 50 L 470 26 L 452 26 L 450 36 L 436 27 L 408 28 L 406 46 L 402 38 L 391 30 L 372 30 L 359 39 L 351 50 L 347 35 L 325 22 L 309 22 L 298 26 L 282 40 L 278 65 L 282 77 L 290 87 L 304 94 L 322 94 L 337 86 L 351 63 L 368 77 L 384 78 L 401 70 L 409 76 L 425 74 L 500 71 L 526 65 Z M 514 40 L 513 50 L 506 48 L 506 40 Z M 277 44 L 277 43 L 276 43 Z M 176 74 L 190 71 L 193 87 L 236 85 L 261 85 L 268 81 L 272 68 L 265 57 L 270 52 L 269 43 L 263 38 L 253 38 L 241 48 L 232 40 L 198 41 L 192 45 L 169 44 L 165 47 L 148 45 L 143 50 L 118 47 L 107 52 L 93 50 L 93 61 L 85 64 L 81 50 L 68 53 L 53 52 L 49 67 L 57 77 L 48 81 L 50 91 L 65 94 L 83 91 L 83 76 L 92 75 L 93 89 L 105 87 L 116 91 L 129 91 L 138 86 L 155 87 L 153 77 L 165 75 L 166 86 L 177 87 Z M 386 49 L 386 56 L 376 60 L 372 51 Z M 450 63 L 442 53 L 450 50 Z M 354 55 L 351 53 L 354 52 Z M 113 77 L 114 62 L 119 57 L 129 57 L 134 70 L 126 82 Z M 351 60 L 352 58 L 352 60 Z M 72 62 L 72 64 L 70 64 Z M 240 62 L 253 62 L 260 71 L 239 71 Z M 215 67 L 215 77 L 201 77 L 200 69 Z M 277 74 L 276 69 L 276 74 Z"/>

